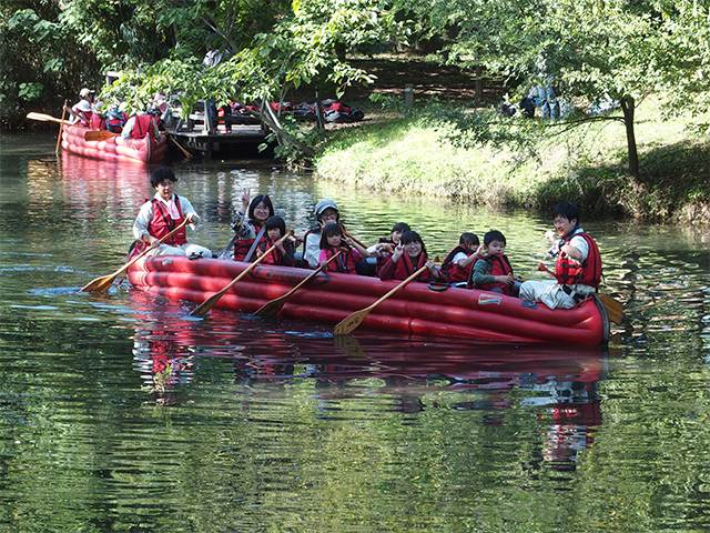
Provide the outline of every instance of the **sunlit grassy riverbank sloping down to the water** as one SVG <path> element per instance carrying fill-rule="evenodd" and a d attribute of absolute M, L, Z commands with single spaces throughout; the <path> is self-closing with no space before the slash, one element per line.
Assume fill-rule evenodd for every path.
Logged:
<path fill-rule="evenodd" d="M 353 103 L 369 120 L 331 132 L 315 161 L 326 179 L 491 207 L 544 210 L 572 200 L 589 215 L 710 222 L 710 142 L 687 131 L 687 118 L 661 120 L 652 98 L 637 110 L 638 179 L 628 175 L 618 121 L 570 131 L 549 125 L 525 152 L 462 150 L 424 120 Z"/>

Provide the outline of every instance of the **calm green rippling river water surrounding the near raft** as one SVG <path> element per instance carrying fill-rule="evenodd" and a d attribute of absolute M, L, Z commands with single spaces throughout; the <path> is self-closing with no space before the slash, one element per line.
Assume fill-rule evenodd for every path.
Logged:
<path fill-rule="evenodd" d="M 190 315 L 115 271 L 148 171 L 0 137 L 0 531 L 557 532 L 710 527 L 707 228 L 582 225 L 625 321 L 609 349 L 481 346 Z M 539 278 L 549 220 L 175 161 L 222 249 L 244 187 L 302 233 L 408 221 L 440 255 L 491 228 Z M 582 221 L 584 222 L 584 221 Z"/>

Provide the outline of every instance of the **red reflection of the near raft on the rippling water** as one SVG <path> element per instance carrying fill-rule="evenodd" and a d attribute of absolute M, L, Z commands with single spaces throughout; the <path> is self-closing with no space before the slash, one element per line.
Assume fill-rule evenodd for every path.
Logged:
<path fill-rule="evenodd" d="M 138 299 L 146 296 L 136 292 Z M 283 401 L 290 394 L 302 400 L 305 389 L 315 402 L 312 416 L 326 423 L 338 420 L 345 403 L 365 396 L 402 416 L 479 411 L 480 423 L 488 426 L 532 422 L 539 447 L 530 461 L 558 470 L 575 467 L 577 454 L 589 447 L 602 423 L 598 388 L 608 354 L 600 346 L 488 345 L 379 334 L 334 339 L 317 331 L 266 330 L 258 320 L 227 314 L 215 316 L 207 331 L 179 303 L 160 305 L 135 331 L 134 356 L 162 405 L 183 405 L 193 382 L 213 383 L 201 376 L 201 364 L 219 359 L 231 368 L 242 401 Z M 298 386 L 285 388 L 290 383 Z"/>

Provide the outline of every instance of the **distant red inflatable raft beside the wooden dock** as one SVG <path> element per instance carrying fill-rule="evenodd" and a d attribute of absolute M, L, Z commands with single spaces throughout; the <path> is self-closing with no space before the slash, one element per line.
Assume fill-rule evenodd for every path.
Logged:
<path fill-rule="evenodd" d="M 123 139 L 121 135 L 113 135 L 105 140 L 88 141 L 88 131 L 91 130 L 78 125 L 63 125 L 62 148 L 71 153 L 105 161 L 162 164 L 165 160 L 166 135 L 161 135 L 158 140 L 150 137 Z"/>

